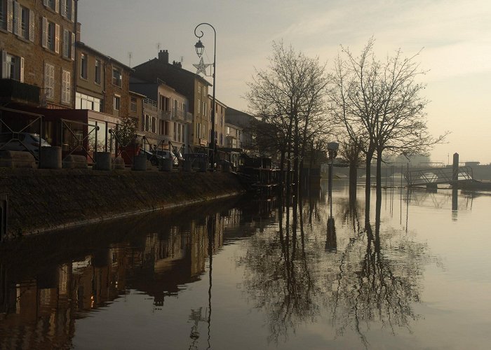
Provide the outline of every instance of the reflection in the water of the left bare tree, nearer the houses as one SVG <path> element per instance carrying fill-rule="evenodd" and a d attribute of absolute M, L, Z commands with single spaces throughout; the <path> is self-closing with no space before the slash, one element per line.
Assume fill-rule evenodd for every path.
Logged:
<path fill-rule="evenodd" d="M 294 200 L 291 212 L 281 208 L 278 218 L 277 235 L 269 240 L 255 235 L 238 262 L 249 272 L 244 286 L 255 307 L 267 310 L 269 342 L 287 338 L 288 330 L 295 331 L 300 323 L 314 321 L 321 291 L 311 273 L 316 255 L 306 251 L 302 206 Z"/>

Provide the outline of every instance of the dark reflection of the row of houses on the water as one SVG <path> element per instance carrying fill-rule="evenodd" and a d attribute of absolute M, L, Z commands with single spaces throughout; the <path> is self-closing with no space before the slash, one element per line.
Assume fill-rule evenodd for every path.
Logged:
<path fill-rule="evenodd" d="M 262 229 L 264 217 L 270 216 L 264 205 L 270 204 L 224 209 L 194 220 L 176 217 L 173 222 L 178 225 L 159 223 L 149 233 L 116 240 L 39 271 L 34 261 L 25 263 L 26 256 L 0 260 L 0 344 L 8 349 L 70 347 L 76 319 L 130 289 L 153 297 L 158 309 L 165 297 L 203 278 L 210 254 L 227 240 Z M 210 221 L 213 235 L 208 234 Z M 22 268 L 16 267 L 19 261 L 24 262 Z"/>

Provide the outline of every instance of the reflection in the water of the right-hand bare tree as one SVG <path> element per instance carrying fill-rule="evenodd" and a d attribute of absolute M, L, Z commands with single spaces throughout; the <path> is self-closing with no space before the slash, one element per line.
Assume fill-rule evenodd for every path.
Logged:
<path fill-rule="evenodd" d="M 428 258 L 425 244 L 396 237 L 394 229 L 381 232 L 381 204 L 377 198 L 375 231 L 366 213 L 365 230 L 345 249 L 329 300 L 337 334 L 351 328 L 365 346 L 371 323 L 395 334 L 396 326 L 408 327 L 417 319 L 412 304 L 419 302 L 422 261 Z"/>

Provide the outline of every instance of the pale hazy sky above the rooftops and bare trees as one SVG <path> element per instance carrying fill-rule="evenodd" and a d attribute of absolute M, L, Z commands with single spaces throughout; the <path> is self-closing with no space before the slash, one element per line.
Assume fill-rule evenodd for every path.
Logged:
<path fill-rule="evenodd" d="M 274 41 L 328 69 L 340 45 L 361 52 L 372 36 L 380 59 L 399 48 L 408 57 L 420 52 L 429 131 L 450 132 L 431 161 L 446 165 L 459 153 L 461 162 L 491 163 L 489 0 L 79 0 L 78 21 L 83 43 L 124 64 L 153 59 L 161 49 L 194 72 L 194 28 L 210 23 L 217 32 L 216 98 L 241 111 L 248 111 L 247 83 L 267 68 Z M 211 63 L 213 29 L 200 29 Z"/>

